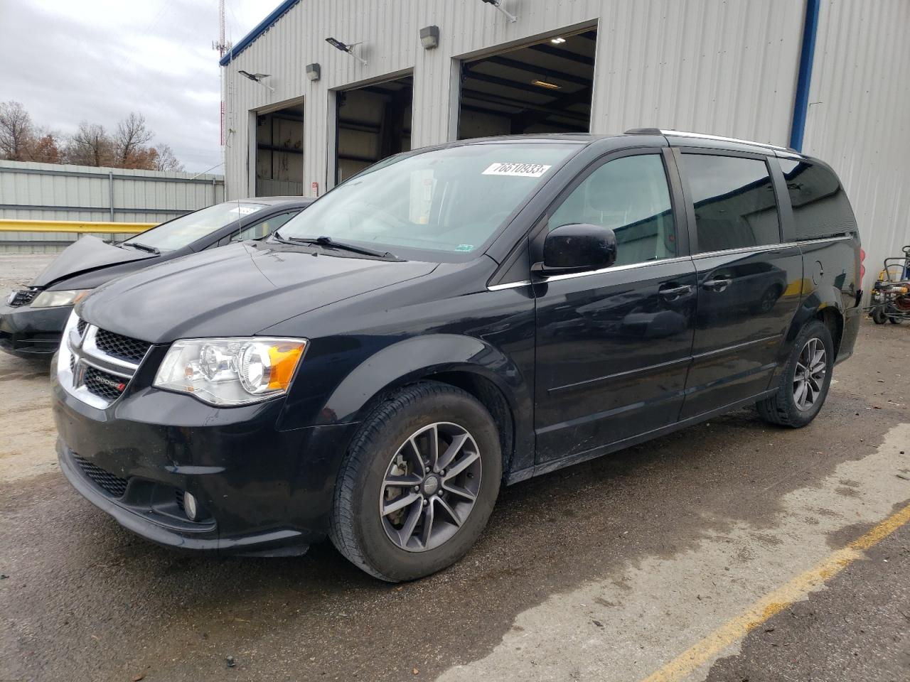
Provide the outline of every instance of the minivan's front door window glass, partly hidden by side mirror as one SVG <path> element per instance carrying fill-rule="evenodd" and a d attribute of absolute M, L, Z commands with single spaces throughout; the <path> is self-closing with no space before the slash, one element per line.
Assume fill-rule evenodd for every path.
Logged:
<path fill-rule="evenodd" d="M 597 168 L 553 212 L 548 229 L 611 227 L 617 266 L 676 256 L 676 226 L 659 154 L 623 156 Z"/>

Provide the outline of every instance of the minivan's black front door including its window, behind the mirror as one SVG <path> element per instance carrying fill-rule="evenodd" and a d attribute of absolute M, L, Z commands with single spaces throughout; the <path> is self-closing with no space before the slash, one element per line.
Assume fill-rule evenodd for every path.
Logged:
<path fill-rule="evenodd" d="M 659 150 L 610 157 L 570 186 L 545 229 L 611 227 L 617 260 L 534 285 L 537 460 L 584 458 L 674 423 L 693 343 L 695 267 Z M 674 196 L 675 201 L 671 201 Z"/>

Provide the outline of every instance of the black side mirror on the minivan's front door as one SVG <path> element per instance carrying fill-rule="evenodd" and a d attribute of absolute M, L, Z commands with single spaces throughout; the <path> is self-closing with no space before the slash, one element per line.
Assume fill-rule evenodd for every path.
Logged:
<path fill-rule="evenodd" d="M 616 235 L 609 227 L 572 223 L 552 229 L 543 242 L 543 259 L 531 268 L 542 275 L 584 272 L 616 262 Z"/>

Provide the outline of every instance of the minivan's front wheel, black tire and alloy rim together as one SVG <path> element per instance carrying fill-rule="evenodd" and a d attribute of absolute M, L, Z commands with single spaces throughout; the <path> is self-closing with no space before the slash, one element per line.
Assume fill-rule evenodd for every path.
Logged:
<path fill-rule="evenodd" d="M 463 557 L 502 478 L 499 433 L 469 393 L 407 386 L 364 420 L 341 464 L 329 537 L 371 576 L 414 580 Z"/>

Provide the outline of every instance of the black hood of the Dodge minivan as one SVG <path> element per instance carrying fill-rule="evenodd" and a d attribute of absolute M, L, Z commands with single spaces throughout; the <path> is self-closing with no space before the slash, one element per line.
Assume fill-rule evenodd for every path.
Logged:
<path fill-rule="evenodd" d="M 251 336 L 288 317 L 427 275 L 437 266 L 244 242 L 119 277 L 76 307 L 90 323 L 164 344 Z"/>

